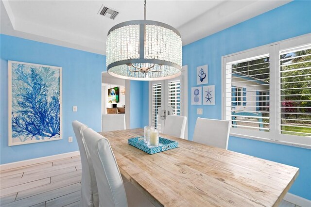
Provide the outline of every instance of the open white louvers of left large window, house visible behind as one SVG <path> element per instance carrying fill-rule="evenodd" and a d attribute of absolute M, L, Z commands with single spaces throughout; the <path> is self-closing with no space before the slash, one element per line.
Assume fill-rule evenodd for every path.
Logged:
<path fill-rule="evenodd" d="M 269 54 L 226 64 L 226 120 L 233 128 L 269 131 Z"/>

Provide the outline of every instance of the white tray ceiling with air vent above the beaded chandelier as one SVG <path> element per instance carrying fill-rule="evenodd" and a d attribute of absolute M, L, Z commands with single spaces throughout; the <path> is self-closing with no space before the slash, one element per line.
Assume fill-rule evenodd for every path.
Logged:
<path fill-rule="evenodd" d="M 183 45 L 219 32 L 290 0 L 147 0 L 147 19 L 167 23 Z M 120 14 L 98 15 L 101 6 Z M 107 32 L 143 18 L 143 0 L 1 0 L 1 33 L 105 54 Z"/>

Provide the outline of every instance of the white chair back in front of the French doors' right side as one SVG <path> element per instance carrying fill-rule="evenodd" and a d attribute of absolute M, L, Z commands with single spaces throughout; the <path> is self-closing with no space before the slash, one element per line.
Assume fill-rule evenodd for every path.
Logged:
<path fill-rule="evenodd" d="M 187 123 L 186 116 L 176 116 L 176 115 L 167 116 L 165 120 L 163 133 L 184 139 L 186 123 Z"/>

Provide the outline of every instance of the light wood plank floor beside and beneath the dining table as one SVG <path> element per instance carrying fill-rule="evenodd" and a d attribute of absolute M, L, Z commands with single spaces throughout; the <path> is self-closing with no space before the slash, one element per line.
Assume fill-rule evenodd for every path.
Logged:
<path fill-rule="evenodd" d="M 78 207 L 80 191 L 80 156 L 0 171 L 1 207 Z"/>

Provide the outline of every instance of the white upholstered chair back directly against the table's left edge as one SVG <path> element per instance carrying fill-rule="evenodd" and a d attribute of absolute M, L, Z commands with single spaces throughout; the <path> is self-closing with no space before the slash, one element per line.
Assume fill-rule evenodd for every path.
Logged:
<path fill-rule="evenodd" d="M 91 128 L 84 130 L 99 194 L 100 207 L 127 207 L 126 193 L 109 141 Z"/>

